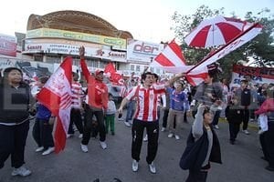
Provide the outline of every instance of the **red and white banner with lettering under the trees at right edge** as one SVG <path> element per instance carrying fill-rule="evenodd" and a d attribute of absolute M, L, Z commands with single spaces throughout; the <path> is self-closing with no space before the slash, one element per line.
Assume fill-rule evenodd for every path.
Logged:
<path fill-rule="evenodd" d="M 230 86 L 240 86 L 245 76 L 250 76 L 253 84 L 274 83 L 274 68 L 234 65 Z"/>

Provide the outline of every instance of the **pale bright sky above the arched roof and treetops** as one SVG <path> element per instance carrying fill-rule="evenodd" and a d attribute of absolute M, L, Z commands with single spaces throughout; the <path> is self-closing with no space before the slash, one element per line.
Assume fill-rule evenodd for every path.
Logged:
<path fill-rule="evenodd" d="M 274 14 L 274 0 L 7 0 L 1 5 L 0 34 L 26 33 L 31 14 L 77 10 L 100 16 L 117 29 L 129 31 L 135 39 L 159 43 L 174 38 L 170 27 L 175 11 L 193 15 L 201 5 L 210 9 L 224 7 L 226 16 L 234 12 L 239 18 L 248 11 L 256 15 L 266 7 Z"/>

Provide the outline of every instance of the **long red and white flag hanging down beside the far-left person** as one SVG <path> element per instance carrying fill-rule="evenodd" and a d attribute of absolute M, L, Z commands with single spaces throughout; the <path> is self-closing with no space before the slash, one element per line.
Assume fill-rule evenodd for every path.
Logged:
<path fill-rule="evenodd" d="M 37 100 L 57 116 L 54 133 L 56 153 L 66 146 L 71 108 L 71 73 L 72 58 L 67 57 L 37 94 Z"/>

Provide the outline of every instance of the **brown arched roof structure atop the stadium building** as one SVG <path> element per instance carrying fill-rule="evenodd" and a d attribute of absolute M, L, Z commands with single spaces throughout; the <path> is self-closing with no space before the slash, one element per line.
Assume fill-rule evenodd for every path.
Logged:
<path fill-rule="evenodd" d="M 29 15 L 26 30 L 37 28 L 53 28 L 124 39 L 133 38 L 130 32 L 118 30 L 97 15 L 71 10 L 52 12 L 47 15 Z"/>

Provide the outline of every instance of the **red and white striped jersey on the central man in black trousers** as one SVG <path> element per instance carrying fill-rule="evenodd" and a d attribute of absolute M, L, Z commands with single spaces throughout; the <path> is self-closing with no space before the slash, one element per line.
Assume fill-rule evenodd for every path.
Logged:
<path fill-rule="evenodd" d="M 126 98 L 131 100 L 134 96 L 137 97 L 137 109 L 134 118 L 146 122 L 156 121 L 158 119 L 158 96 L 163 93 L 164 85 L 153 85 L 149 88 L 143 86 L 133 87 Z"/>

